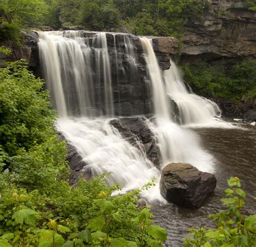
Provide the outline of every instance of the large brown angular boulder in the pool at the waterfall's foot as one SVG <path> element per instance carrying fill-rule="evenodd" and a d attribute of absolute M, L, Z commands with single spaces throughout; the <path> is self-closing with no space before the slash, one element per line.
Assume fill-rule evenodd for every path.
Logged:
<path fill-rule="evenodd" d="M 184 163 L 171 163 L 161 173 L 160 193 L 170 202 L 188 208 L 198 208 L 216 187 L 215 175 L 200 172 Z"/>

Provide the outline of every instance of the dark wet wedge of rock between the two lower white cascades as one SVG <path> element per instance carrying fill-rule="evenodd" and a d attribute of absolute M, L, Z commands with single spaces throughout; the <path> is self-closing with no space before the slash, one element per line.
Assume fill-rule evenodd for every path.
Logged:
<path fill-rule="evenodd" d="M 154 134 L 146 124 L 146 121 L 148 120 L 145 117 L 136 116 L 112 119 L 110 124 L 113 125 L 114 128 L 120 132 L 123 138 L 129 141 L 133 146 L 137 147 L 139 150 L 144 149 L 147 158 L 151 160 L 155 166 L 159 167 L 159 146 L 156 143 Z"/>

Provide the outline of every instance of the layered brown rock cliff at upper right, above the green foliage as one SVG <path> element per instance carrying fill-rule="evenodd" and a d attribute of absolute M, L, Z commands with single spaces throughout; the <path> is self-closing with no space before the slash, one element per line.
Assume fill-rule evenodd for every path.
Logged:
<path fill-rule="evenodd" d="M 188 23 L 181 62 L 256 58 L 256 14 L 242 0 L 209 0 L 198 23 Z"/>

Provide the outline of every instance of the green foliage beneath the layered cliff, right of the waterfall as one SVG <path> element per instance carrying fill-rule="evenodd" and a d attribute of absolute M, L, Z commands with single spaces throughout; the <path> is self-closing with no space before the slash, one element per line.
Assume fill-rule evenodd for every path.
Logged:
<path fill-rule="evenodd" d="M 227 71 L 207 62 L 183 67 L 184 79 L 196 93 L 206 96 L 240 100 L 242 96 L 256 96 L 256 61 L 244 61 Z"/>

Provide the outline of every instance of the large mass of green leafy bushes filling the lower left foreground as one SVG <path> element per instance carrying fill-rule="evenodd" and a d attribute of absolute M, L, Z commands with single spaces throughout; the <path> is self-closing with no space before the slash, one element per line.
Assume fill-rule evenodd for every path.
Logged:
<path fill-rule="evenodd" d="M 106 174 L 69 185 L 43 81 L 23 61 L 0 72 L 0 246 L 162 246 L 140 190 L 112 196 Z"/>

